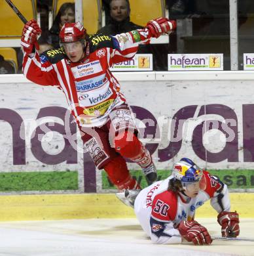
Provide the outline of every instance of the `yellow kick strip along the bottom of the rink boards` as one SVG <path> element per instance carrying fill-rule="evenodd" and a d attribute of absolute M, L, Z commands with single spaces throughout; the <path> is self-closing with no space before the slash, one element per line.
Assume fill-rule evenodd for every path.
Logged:
<path fill-rule="evenodd" d="M 231 193 L 230 200 L 240 218 L 254 217 L 254 193 Z M 0 196 L 0 205 L 0 221 L 135 217 L 115 194 Z M 216 218 L 217 213 L 207 202 L 196 217 Z"/>

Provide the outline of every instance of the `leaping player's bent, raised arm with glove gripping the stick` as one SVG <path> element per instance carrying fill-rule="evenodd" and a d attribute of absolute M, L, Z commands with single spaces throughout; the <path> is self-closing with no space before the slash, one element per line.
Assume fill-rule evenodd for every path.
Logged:
<path fill-rule="evenodd" d="M 59 85 L 56 72 L 52 64 L 45 58 L 40 58 L 37 50 L 37 35 L 41 28 L 35 20 L 27 22 L 22 30 L 21 46 L 24 53 L 22 68 L 27 79 L 39 85 Z M 35 54 L 33 49 L 35 48 Z"/>

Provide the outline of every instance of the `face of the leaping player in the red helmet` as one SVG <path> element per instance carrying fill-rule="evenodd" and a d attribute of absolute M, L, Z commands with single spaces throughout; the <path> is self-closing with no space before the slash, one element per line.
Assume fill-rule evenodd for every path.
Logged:
<path fill-rule="evenodd" d="M 84 58 L 84 45 L 80 42 L 63 43 L 64 51 L 71 62 L 78 62 Z"/>

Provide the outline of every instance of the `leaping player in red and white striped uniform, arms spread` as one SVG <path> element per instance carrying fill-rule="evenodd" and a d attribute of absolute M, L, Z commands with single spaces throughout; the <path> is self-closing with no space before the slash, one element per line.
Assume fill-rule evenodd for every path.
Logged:
<path fill-rule="evenodd" d="M 38 49 L 41 29 L 35 20 L 24 26 L 24 75 L 34 83 L 53 85 L 64 92 L 84 147 L 96 167 L 105 169 L 119 190 L 140 188 L 130 176 L 124 158 L 141 167 L 148 184 L 156 181 L 157 175 L 151 154 L 137 139 L 132 112 L 109 68 L 133 58 L 139 44 L 174 29 L 175 21 L 157 18 L 143 30 L 115 36 L 87 35 L 79 22 L 67 23 L 60 31 L 62 48 L 39 56 L 33 49 Z"/>

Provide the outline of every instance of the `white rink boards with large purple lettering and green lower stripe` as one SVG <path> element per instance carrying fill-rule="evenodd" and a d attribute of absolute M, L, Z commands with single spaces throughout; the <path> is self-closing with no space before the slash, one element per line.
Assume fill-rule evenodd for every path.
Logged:
<path fill-rule="evenodd" d="M 174 161 L 189 157 L 221 173 L 230 190 L 253 191 L 253 72 L 115 76 L 157 169 L 166 172 Z M 60 90 L 35 85 L 22 75 L 1 75 L 0 86 L 1 194 L 115 191 L 83 151 Z M 67 140 L 65 133 L 71 134 Z M 139 169 L 133 163 L 128 167 Z"/>

